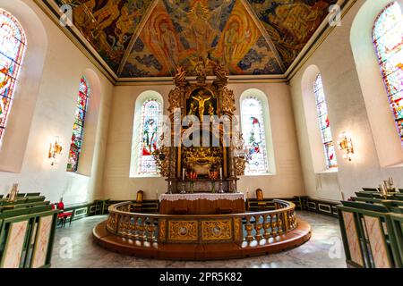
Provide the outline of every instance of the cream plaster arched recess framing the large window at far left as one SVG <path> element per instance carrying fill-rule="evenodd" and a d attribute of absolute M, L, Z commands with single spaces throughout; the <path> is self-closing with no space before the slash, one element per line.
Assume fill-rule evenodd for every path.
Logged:
<path fill-rule="evenodd" d="M 18 132 L 4 133 L 0 148 L 0 172 L 21 172 L 47 55 L 47 32 L 37 13 L 23 1 L 0 0 L 0 7 L 20 22 L 29 43 L 13 91 L 13 110 L 7 118 L 7 130 Z"/>

